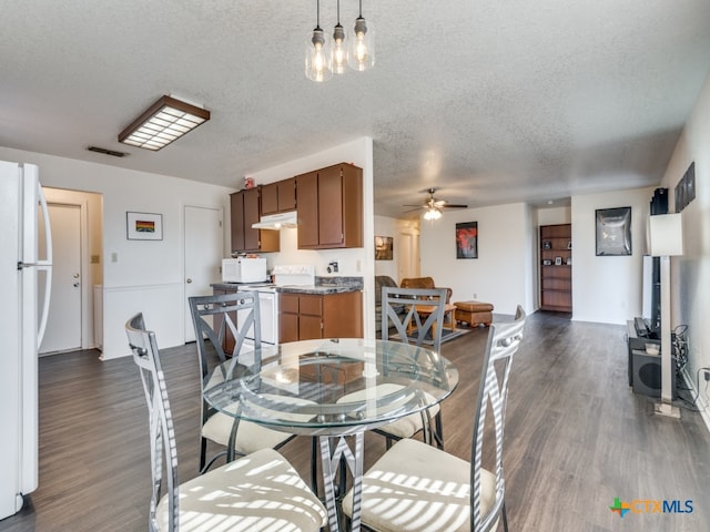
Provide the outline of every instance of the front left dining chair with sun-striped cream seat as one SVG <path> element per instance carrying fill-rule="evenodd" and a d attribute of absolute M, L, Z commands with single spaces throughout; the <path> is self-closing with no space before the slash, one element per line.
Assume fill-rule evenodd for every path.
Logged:
<path fill-rule="evenodd" d="M 175 430 L 155 335 L 145 329 L 142 314 L 129 319 L 125 331 L 149 411 L 150 531 L 315 532 L 325 525 L 321 501 L 273 449 L 255 451 L 180 484 Z"/>

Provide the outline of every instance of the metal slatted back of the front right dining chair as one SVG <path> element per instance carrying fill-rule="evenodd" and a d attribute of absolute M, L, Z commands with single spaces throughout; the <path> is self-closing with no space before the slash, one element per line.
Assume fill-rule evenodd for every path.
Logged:
<path fill-rule="evenodd" d="M 478 402 L 474 419 L 474 434 L 471 446 L 471 490 L 470 490 L 470 522 L 471 530 L 487 532 L 497 524 L 505 502 L 505 475 L 503 468 L 503 439 L 505 432 L 505 415 L 508 400 L 508 382 L 510 362 L 523 339 L 525 311 L 518 306 L 515 320 L 511 323 L 493 324 L 488 331 L 488 341 L 484 355 L 483 371 L 478 387 Z M 486 412 L 490 409 L 495 433 L 495 468 L 496 499 L 490 511 L 481 515 L 481 482 L 483 443 L 486 427 Z"/>

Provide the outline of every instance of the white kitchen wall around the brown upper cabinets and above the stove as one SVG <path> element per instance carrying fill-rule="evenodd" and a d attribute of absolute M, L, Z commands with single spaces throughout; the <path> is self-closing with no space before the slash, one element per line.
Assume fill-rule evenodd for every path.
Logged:
<path fill-rule="evenodd" d="M 280 264 L 313 264 L 316 275 L 327 276 L 331 260 L 338 262 L 338 276 L 363 277 L 363 320 L 365 338 L 375 337 L 375 229 L 373 207 L 373 140 L 363 136 L 302 158 L 290 161 L 248 175 L 254 184 L 264 185 L 314 170 L 347 162 L 363 168 L 363 244 L 349 249 L 302 250 L 297 248 L 297 228 L 281 232 L 281 252 L 266 254 L 270 267 Z"/>

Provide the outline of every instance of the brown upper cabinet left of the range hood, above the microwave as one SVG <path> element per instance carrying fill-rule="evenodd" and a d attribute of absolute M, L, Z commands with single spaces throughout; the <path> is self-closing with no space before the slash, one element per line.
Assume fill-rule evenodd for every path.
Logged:
<path fill-rule="evenodd" d="M 232 212 L 232 252 L 277 252 L 277 231 L 253 229 L 258 222 L 261 209 L 261 186 L 230 194 Z"/>

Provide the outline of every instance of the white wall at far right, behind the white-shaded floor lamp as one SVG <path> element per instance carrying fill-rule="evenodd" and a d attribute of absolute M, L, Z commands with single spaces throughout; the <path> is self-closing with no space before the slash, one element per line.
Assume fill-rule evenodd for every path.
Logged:
<path fill-rule="evenodd" d="M 684 254 L 671 257 L 671 326 L 688 325 L 687 369 L 697 386 L 698 369 L 710 368 L 710 75 L 661 182 L 669 188 L 670 212 L 674 212 L 674 187 L 693 161 L 696 198 L 682 211 Z M 704 416 L 710 426 L 707 411 Z"/>

